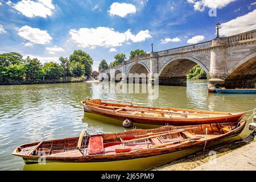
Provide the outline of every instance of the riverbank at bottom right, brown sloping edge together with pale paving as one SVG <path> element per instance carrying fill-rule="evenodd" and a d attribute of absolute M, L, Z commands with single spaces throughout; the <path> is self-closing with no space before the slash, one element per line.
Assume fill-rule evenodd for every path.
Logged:
<path fill-rule="evenodd" d="M 191 171 L 191 170 L 256 170 L 256 142 L 247 144 L 247 138 L 234 140 L 229 144 L 219 144 L 207 150 L 189 155 L 163 166 L 155 167 L 152 171 Z M 213 152 L 214 155 L 213 156 Z M 247 164 L 251 163 L 251 164 Z M 254 167 L 253 167 L 254 165 Z M 243 169 L 242 169 L 243 170 Z"/>

